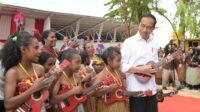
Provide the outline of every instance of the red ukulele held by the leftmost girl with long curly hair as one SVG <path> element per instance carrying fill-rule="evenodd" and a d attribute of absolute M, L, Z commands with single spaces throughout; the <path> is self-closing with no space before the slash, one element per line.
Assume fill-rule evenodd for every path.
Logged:
<path fill-rule="evenodd" d="M 64 60 L 59 68 L 61 70 L 65 69 L 69 65 L 67 60 Z M 55 79 L 55 75 L 49 77 L 49 82 L 51 83 Z M 42 104 L 48 99 L 49 92 L 47 89 L 33 93 L 15 112 L 40 112 Z"/>

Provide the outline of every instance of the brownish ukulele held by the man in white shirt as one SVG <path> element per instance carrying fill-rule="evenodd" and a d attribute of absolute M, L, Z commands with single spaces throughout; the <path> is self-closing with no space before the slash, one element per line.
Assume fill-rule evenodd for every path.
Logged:
<path fill-rule="evenodd" d="M 176 52 L 171 54 L 173 59 L 179 55 L 181 55 L 181 50 L 177 50 Z M 152 69 L 158 69 L 160 66 L 163 66 L 164 64 L 166 64 L 166 62 L 167 62 L 166 59 L 163 59 L 157 63 L 150 61 L 146 65 L 151 65 Z M 138 66 L 142 66 L 142 65 L 138 65 Z M 147 75 L 147 74 L 142 74 L 142 73 L 135 73 L 135 77 L 139 82 L 147 83 L 151 79 L 152 76 Z"/>

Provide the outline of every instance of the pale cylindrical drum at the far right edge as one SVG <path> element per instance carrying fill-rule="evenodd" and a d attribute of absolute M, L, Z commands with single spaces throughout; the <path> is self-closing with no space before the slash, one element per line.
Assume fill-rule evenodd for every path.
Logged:
<path fill-rule="evenodd" d="M 186 83 L 192 86 L 199 85 L 200 80 L 198 77 L 200 75 L 199 67 L 188 67 L 186 71 Z"/>

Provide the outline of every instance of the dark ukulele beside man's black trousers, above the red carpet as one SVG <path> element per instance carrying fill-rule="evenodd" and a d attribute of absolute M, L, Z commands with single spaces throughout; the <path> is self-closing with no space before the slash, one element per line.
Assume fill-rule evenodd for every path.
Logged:
<path fill-rule="evenodd" d="M 157 100 L 157 102 L 163 102 L 165 97 L 167 97 L 167 96 L 172 97 L 172 96 L 174 96 L 176 94 L 178 94 L 178 91 L 172 91 L 172 92 L 169 92 L 169 93 L 163 93 L 163 91 L 160 90 L 156 94 L 156 100 Z"/>

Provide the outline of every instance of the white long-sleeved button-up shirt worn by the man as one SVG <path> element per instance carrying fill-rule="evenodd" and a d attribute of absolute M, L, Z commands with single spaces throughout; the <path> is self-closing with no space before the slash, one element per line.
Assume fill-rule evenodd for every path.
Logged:
<path fill-rule="evenodd" d="M 121 48 L 122 60 L 121 70 L 126 73 L 126 82 L 128 91 L 152 90 L 156 94 L 155 76 L 152 76 L 147 83 L 139 82 L 134 74 L 127 73 L 132 67 L 145 65 L 149 61 L 158 61 L 158 45 L 153 37 L 147 41 L 144 40 L 139 32 L 126 39 Z"/>

